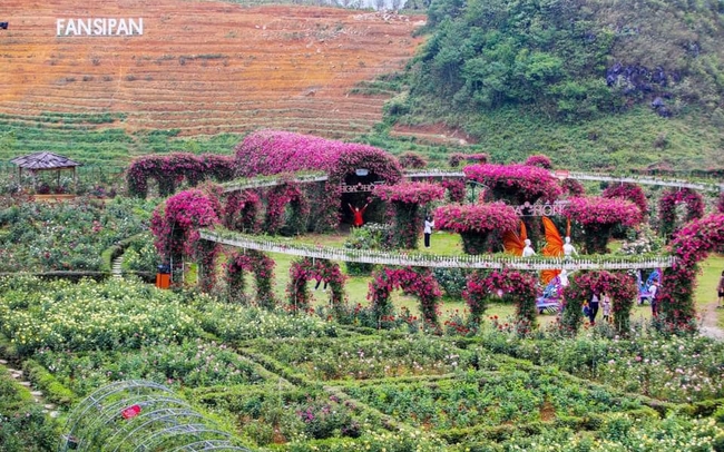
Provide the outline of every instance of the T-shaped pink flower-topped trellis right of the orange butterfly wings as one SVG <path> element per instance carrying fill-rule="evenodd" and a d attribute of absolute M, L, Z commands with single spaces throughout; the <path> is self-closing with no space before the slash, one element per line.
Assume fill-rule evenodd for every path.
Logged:
<path fill-rule="evenodd" d="M 571 220 L 584 226 L 586 253 L 607 253 L 608 240 L 614 227 L 635 226 L 642 222 L 640 209 L 623 198 L 598 196 L 570 198 L 564 213 Z"/>

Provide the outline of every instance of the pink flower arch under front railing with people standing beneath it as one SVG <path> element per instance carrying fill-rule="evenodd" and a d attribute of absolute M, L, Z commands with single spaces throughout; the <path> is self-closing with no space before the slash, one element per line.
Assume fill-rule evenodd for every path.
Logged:
<path fill-rule="evenodd" d="M 610 298 L 614 325 L 619 334 L 628 334 L 630 328 L 630 309 L 638 296 L 636 279 L 625 273 L 585 272 L 570 277 L 564 288 L 564 311 L 560 318 L 566 334 L 576 335 L 583 320 L 581 307 L 589 302 L 594 293 L 606 293 Z"/>

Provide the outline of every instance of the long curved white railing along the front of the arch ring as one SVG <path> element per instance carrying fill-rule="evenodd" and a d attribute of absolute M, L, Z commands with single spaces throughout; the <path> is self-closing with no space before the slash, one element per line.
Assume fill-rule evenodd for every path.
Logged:
<path fill-rule="evenodd" d="M 205 240 L 234 246 L 237 248 L 256 249 L 266 253 L 280 253 L 300 257 L 319 259 L 355 262 L 363 264 L 402 265 L 412 267 L 447 267 L 447 268 L 513 268 L 528 271 L 542 269 L 637 269 L 666 268 L 674 265 L 675 257 L 669 255 L 643 258 L 623 258 L 618 256 L 598 258 L 522 258 L 500 255 L 477 256 L 443 256 L 420 254 L 415 252 L 391 253 L 368 249 L 349 249 L 323 245 L 305 245 L 282 242 L 277 238 L 253 236 L 229 230 L 202 229 Z"/>

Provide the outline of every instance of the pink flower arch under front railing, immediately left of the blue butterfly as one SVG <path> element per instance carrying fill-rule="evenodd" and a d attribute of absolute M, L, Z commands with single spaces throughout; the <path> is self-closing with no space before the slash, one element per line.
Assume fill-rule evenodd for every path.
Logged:
<path fill-rule="evenodd" d="M 507 268 L 477 271 L 468 276 L 462 297 L 470 307 L 471 321 L 474 323 L 480 322 L 490 298 L 509 297 L 516 305 L 517 330 L 525 334 L 536 327 L 536 285 L 537 277 L 531 273 Z"/>

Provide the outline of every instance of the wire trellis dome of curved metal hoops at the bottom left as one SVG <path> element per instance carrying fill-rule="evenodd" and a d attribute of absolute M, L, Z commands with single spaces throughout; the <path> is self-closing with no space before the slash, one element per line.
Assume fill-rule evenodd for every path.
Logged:
<path fill-rule="evenodd" d="M 96 390 L 70 412 L 63 433 L 62 452 L 251 452 L 168 387 L 139 380 Z"/>

